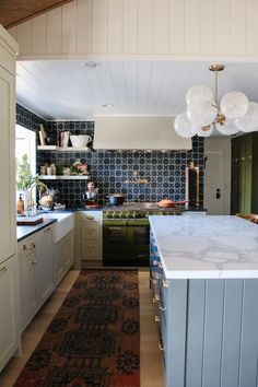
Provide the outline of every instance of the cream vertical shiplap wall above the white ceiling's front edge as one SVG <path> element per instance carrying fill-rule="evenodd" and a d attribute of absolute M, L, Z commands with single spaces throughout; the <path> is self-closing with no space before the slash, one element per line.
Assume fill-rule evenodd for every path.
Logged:
<path fill-rule="evenodd" d="M 258 56 L 257 0 L 75 0 L 9 30 L 21 57 Z"/>

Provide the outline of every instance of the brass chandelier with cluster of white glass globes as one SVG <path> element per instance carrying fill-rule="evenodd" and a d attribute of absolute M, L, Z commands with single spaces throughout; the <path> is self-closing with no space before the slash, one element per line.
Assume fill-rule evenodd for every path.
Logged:
<path fill-rule="evenodd" d="M 210 64 L 214 72 L 214 95 L 210 87 L 199 84 L 186 94 L 186 112 L 175 118 L 175 131 L 184 138 L 194 136 L 209 137 L 213 127 L 221 134 L 232 136 L 238 131 L 258 130 L 258 104 L 248 102 L 241 92 L 226 93 L 220 104 L 218 102 L 218 74 L 224 70 L 221 63 Z"/>

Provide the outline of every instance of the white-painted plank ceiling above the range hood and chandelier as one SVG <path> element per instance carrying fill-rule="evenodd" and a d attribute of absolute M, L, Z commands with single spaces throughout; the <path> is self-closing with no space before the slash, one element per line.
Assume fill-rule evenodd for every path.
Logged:
<path fill-rule="evenodd" d="M 95 64 L 95 66 L 94 66 Z M 219 101 L 230 91 L 258 101 L 257 63 L 224 63 Z M 92 119 L 95 115 L 174 116 L 186 109 L 195 84 L 213 90 L 209 62 L 166 60 L 19 61 L 17 102 L 47 119 Z"/>

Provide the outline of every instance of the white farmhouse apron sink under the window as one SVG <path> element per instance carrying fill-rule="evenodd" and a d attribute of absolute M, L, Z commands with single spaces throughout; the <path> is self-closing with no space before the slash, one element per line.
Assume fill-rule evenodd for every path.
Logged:
<path fill-rule="evenodd" d="M 58 243 L 63 236 L 66 236 L 70 231 L 73 230 L 74 227 L 74 214 L 70 212 L 49 212 L 49 213 L 44 213 L 44 218 L 47 219 L 57 219 L 57 222 L 54 223 L 52 230 L 54 230 L 54 242 Z"/>

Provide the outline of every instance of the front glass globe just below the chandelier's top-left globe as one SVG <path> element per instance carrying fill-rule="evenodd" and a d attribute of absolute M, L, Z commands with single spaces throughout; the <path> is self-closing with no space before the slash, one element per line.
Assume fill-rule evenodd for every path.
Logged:
<path fill-rule="evenodd" d="M 187 117 L 197 127 L 204 127 L 214 121 L 218 108 L 211 103 L 194 104 L 187 107 Z"/>

